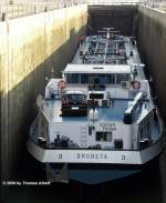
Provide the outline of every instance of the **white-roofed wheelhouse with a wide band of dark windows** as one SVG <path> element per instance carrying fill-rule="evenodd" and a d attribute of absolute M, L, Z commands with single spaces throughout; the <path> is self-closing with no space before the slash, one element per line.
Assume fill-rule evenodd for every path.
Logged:
<path fill-rule="evenodd" d="M 63 71 L 68 84 L 120 85 L 132 80 L 131 65 L 68 64 Z"/>

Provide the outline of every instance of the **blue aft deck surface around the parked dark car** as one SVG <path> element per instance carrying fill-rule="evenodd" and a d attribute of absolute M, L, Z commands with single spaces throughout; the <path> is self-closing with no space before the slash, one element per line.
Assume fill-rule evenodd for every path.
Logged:
<path fill-rule="evenodd" d="M 100 121 L 123 121 L 124 112 L 127 109 L 131 99 L 111 99 L 111 105 L 110 106 L 96 106 L 96 110 L 98 112 Z M 148 101 L 146 101 L 147 103 Z M 45 100 L 43 103 L 43 110 L 42 110 L 45 119 L 48 122 L 87 122 L 89 116 L 62 116 L 61 112 L 61 100 Z M 144 116 L 144 114 L 148 113 L 148 110 L 146 110 L 145 105 L 141 105 L 137 112 L 137 122 L 139 116 Z"/>

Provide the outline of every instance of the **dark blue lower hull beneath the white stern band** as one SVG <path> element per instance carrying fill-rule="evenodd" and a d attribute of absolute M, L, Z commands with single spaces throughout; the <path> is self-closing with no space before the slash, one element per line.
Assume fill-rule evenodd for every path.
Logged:
<path fill-rule="evenodd" d="M 129 175 L 134 175 L 142 172 L 149 173 L 149 170 L 159 169 L 159 156 L 160 153 L 153 160 L 142 165 L 129 165 L 129 164 L 68 164 L 68 179 L 84 184 L 101 184 L 104 182 L 115 181 Z M 50 169 L 53 174 L 58 174 L 62 164 L 50 164 Z M 53 176 L 52 176 L 53 180 Z M 69 181 L 68 180 L 68 181 Z M 56 181 L 56 179 L 54 179 Z M 66 181 L 66 180 L 65 180 Z M 65 182 L 63 176 L 61 182 Z"/>

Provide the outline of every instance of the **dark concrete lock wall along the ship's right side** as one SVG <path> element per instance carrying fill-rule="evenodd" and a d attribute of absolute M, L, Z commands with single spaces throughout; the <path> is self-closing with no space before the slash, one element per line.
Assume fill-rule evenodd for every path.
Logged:
<path fill-rule="evenodd" d="M 166 122 L 166 13 L 138 7 L 138 47 L 154 79 L 158 106 Z"/>

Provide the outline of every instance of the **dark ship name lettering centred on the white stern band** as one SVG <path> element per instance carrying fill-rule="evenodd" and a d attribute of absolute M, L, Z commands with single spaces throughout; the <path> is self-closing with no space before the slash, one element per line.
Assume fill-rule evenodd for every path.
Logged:
<path fill-rule="evenodd" d="M 107 155 L 104 153 L 77 153 L 77 160 L 107 160 Z"/>

